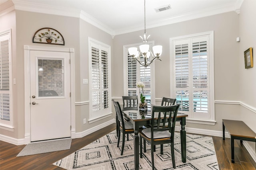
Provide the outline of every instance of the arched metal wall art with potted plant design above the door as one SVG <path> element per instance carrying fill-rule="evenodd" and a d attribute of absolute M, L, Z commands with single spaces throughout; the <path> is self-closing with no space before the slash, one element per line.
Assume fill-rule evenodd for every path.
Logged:
<path fill-rule="evenodd" d="M 65 45 L 61 33 L 53 28 L 41 28 L 33 36 L 33 43 Z"/>

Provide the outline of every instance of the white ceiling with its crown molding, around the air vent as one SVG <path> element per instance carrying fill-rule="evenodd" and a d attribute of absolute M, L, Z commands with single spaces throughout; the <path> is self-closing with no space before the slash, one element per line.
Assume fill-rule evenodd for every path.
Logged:
<path fill-rule="evenodd" d="M 1 4 L 8 0 L 0 0 Z M 10 2 L 10 0 L 9 0 Z M 111 35 L 144 29 L 144 0 L 12 0 L 15 9 L 75 16 Z M 146 28 L 236 11 L 243 0 L 146 0 Z M 154 8 L 169 5 L 170 10 Z M 76 13 L 76 14 L 74 14 Z"/>

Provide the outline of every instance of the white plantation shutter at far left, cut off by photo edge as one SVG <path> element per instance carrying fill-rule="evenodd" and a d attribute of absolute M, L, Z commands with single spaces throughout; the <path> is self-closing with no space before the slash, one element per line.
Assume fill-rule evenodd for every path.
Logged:
<path fill-rule="evenodd" d="M 0 41 L 0 119 L 10 121 L 9 39 Z"/>

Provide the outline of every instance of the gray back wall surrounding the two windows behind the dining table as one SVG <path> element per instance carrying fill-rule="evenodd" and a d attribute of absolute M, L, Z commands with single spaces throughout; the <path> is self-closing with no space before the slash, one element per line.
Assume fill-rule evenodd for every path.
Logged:
<path fill-rule="evenodd" d="M 231 29 L 232 28 L 232 29 Z M 147 29 L 147 35 L 151 35 L 150 40 L 154 40 L 155 45 L 163 45 L 162 61 L 155 61 L 155 86 L 156 99 L 170 97 L 170 38 L 194 33 L 214 31 L 214 86 L 215 100 L 239 101 L 239 78 L 238 47 L 236 37 L 239 35 L 239 15 L 236 12 L 228 12 L 215 16 L 209 16 L 196 20 L 184 21 L 171 25 Z M 140 43 L 139 35 L 144 31 L 136 31 L 114 38 L 114 61 L 122 63 L 123 45 Z M 123 94 L 123 68 L 117 65 L 113 69 L 112 77 L 114 82 L 112 88 L 113 97 L 120 97 Z M 186 127 L 199 129 L 222 130 L 222 119 L 238 119 L 240 116 L 239 105 L 215 104 L 216 125 L 202 125 L 187 123 Z"/>

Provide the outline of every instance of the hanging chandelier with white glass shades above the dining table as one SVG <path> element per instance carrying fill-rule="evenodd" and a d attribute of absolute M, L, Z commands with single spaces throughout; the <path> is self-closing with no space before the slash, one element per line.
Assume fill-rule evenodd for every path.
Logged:
<path fill-rule="evenodd" d="M 138 61 L 144 67 L 147 67 L 155 60 L 160 60 L 159 57 L 162 54 L 162 45 L 155 45 L 154 47 L 152 47 L 152 53 L 148 45 L 149 37 L 150 35 L 146 37 L 146 0 L 144 0 L 144 36 L 140 36 L 143 44 L 140 45 L 140 51 L 138 51 L 137 47 L 131 47 L 128 49 L 129 54 L 132 56 L 132 60 Z M 141 54 L 143 58 L 140 57 Z"/>

